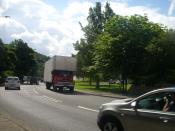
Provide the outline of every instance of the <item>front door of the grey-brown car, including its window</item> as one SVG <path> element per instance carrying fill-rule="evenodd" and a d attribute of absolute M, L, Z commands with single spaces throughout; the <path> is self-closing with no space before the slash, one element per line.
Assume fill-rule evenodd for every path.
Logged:
<path fill-rule="evenodd" d="M 163 95 L 158 93 L 136 100 L 135 108 L 128 108 L 125 114 L 127 131 L 172 131 L 173 115 L 163 112 Z M 175 131 L 175 130 L 174 130 Z"/>

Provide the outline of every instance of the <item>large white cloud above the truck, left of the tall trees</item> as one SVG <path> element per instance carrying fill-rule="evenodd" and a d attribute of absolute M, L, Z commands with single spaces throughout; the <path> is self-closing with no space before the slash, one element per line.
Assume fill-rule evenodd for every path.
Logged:
<path fill-rule="evenodd" d="M 10 38 L 4 40 L 23 39 L 30 47 L 50 56 L 70 56 L 75 52 L 72 43 L 83 35 L 78 22 L 85 22 L 92 6 L 89 2 L 72 2 L 65 10 L 58 11 L 41 0 L 8 0 L 8 5 L 5 12 L 11 16 L 10 20 L 21 23 L 24 30 L 17 25 L 12 26 L 17 32 L 5 28 L 0 37 L 9 32 Z"/>

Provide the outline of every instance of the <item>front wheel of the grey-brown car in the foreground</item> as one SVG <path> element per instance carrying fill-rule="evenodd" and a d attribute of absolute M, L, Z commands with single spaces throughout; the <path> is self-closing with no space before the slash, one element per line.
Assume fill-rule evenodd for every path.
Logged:
<path fill-rule="evenodd" d="M 120 131 L 119 126 L 114 120 L 108 120 L 104 123 L 102 131 Z"/>

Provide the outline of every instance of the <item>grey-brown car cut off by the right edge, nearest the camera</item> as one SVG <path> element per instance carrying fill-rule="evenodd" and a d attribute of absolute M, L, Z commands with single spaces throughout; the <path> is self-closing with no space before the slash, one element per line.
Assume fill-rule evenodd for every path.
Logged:
<path fill-rule="evenodd" d="M 170 105 L 173 108 L 168 107 Z M 97 117 L 97 124 L 102 131 L 175 131 L 174 123 L 173 87 L 102 104 Z"/>

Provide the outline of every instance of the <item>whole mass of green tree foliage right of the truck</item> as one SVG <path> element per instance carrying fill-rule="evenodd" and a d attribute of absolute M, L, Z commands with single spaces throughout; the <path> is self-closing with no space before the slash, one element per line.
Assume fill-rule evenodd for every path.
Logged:
<path fill-rule="evenodd" d="M 74 44 L 78 74 L 120 78 L 135 85 L 173 83 L 175 31 L 147 16 L 119 16 L 106 3 L 89 9 L 84 38 Z M 98 77 L 97 77 L 98 78 Z"/>

